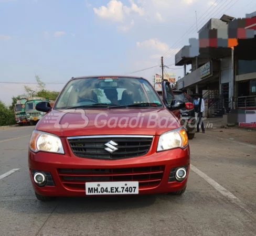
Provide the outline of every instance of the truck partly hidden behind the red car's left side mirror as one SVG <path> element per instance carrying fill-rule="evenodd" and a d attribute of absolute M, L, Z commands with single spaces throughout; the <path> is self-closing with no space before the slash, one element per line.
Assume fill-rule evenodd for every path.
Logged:
<path fill-rule="evenodd" d="M 42 101 L 47 100 L 45 98 L 34 96 L 32 98 L 29 98 L 26 102 L 27 120 L 28 122 L 30 122 L 31 125 L 36 125 L 36 123 L 41 119 L 41 117 L 46 114 L 45 112 L 38 112 L 36 110 L 36 105 Z"/>

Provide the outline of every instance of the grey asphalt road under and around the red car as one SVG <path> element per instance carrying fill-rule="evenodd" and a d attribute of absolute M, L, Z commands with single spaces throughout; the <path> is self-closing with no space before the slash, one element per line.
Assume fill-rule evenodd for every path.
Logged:
<path fill-rule="evenodd" d="M 0 130 L 0 235 L 256 235 L 256 145 L 213 131 L 197 134 L 181 197 L 44 203 L 34 195 L 27 167 L 33 128 Z M 6 176 L 10 170 L 14 173 Z"/>

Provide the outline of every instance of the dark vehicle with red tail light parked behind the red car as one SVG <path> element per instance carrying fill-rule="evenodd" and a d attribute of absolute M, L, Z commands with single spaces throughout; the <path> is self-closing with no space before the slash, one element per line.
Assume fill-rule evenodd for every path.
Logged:
<path fill-rule="evenodd" d="M 172 90 L 175 99 L 182 100 L 185 102 L 186 106 L 183 109 L 180 109 L 182 116 L 182 125 L 186 126 L 188 139 L 192 140 L 195 137 L 196 133 L 196 115 L 193 103 L 189 102 L 182 91 Z M 162 98 L 162 92 L 158 92 Z"/>

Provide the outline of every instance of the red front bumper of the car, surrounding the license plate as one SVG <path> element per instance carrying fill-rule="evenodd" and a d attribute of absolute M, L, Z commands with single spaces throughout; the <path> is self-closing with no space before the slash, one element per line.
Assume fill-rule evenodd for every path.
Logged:
<path fill-rule="evenodd" d="M 188 146 L 185 149 L 176 148 L 142 157 L 98 160 L 68 154 L 33 153 L 29 149 L 28 163 L 34 190 L 37 194 L 43 196 L 86 196 L 85 183 L 90 176 L 105 178 L 105 181 L 126 181 L 114 180 L 116 176 L 114 176 L 113 170 L 115 173 L 119 173 L 118 178 L 131 177 L 134 178 L 134 181 L 139 181 L 138 194 L 160 194 L 179 191 L 186 187 L 190 154 Z M 187 166 L 186 178 L 181 182 L 176 180 L 170 182 L 170 171 L 182 166 Z M 63 170 L 66 172 L 63 173 Z M 70 170 L 72 171 L 70 172 Z M 100 174 L 97 174 L 98 170 L 101 170 Z M 50 186 L 37 186 L 33 180 L 35 171 L 50 173 L 51 177 L 49 179 L 52 180 L 49 182 Z M 142 175 L 138 175 L 138 173 Z"/>

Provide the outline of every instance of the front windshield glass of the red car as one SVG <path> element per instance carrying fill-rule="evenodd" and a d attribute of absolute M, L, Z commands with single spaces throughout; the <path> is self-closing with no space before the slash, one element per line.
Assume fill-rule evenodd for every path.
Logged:
<path fill-rule="evenodd" d="M 75 106 L 133 105 L 156 103 L 162 105 L 155 90 L 145 79 L 125 77 L 95 77 L 74 79 L 61 93 L 55 109 Z"/>

